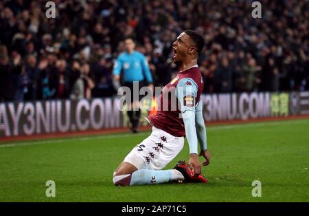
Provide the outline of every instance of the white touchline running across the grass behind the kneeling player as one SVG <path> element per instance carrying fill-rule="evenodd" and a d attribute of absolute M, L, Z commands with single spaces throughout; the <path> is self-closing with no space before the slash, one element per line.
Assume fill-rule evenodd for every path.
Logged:
<path fill-rule="evenodd" d="M 287 124 L 296 124 L 299 122 L 306 122 L 308 119 L 303 120 L 287 120 L 287 121 L 280 121 L 280 122 L 261 122 L 261 123 L 244 123 L 240 125 L 218 125 L 218 126 L 212 126 L 207 127 L 207 131 L 212 130 L 225 130 L 225 129 L 241 129 L 244 127 L 263 127 L 263 126 L 274 126 L 274 125 L 287 125 Z M 30 146 L 30 145 L 36 145 L 36 144 L 50 144 L 50 143 L 62 143 L 67 141 L 84 141 L 84 140 L 104 140 L 104 139 L 111 139 L 111 138 L 126 138 L 126 137 L 132 137 L 132 136 L 142 136 L 150 134 L 150 131 L 143 132 L 143 133 L 124 133 L 124 134 L 115 134 L 115 135 L 100 135 L 100 136 L 86 136 L 86 137 L 79 137 L 79 138 L 65 138 L 65 139 L 55 139 L 55 140 L 45 140 L 45 141 L 34 141 L 34 142 L 12 142 L 8 144 L 0 144 L 0 148 L 6 148 L 6 147 L 24 147 L 24 146 Z"/>

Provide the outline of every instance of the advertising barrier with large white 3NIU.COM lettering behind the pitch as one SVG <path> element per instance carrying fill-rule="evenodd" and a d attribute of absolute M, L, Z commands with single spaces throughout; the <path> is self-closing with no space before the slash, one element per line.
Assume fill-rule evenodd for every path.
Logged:
<path fill-rule="evenodd" d="M 0 138 L 126 128 L 128 116 L 119 111 L 119 102 L 119 97 L 2 102 Z M 309 91 L 207 94 L 202 102 L 207 122 L 309 114 Z M 148 122 L 141 118 L 141 125 Z"/>

